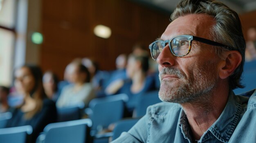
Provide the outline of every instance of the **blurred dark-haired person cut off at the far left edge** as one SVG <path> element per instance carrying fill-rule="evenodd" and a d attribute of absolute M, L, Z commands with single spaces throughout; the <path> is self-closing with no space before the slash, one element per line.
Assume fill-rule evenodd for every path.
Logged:
<path fill-rule="evenodd" d="M 0 113 L 8 112 L 9 105 L 7 97 L 9 95 L 9 88 L 0 86 Z"/>

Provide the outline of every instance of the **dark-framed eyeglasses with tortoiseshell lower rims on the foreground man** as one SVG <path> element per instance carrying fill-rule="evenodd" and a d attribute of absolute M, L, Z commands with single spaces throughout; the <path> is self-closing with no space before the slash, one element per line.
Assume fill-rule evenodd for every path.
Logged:
<path fill-rule="evenodd" d="M 188 55 L 191 51 L 191 45 L 192 41 L 196 40 L 198 42 L 202 42 L 204 44 L 209 44 L 212 46 L 220 46 L 225 47 L 227 46 L 220 44 L 218 42 L 214 42 L 208 39 L 204 39 L 201 37 L 191 36 L 191 35 L 180 35 L 177 37 L 174 37 L 170 40 L 157 40 L 149 45 L 151 56 L 154 60 L 157 59 L 161 51 L 166 46 L 166 43 L 169 44 L 169 48 L 171 50 L 171 53 L 177 57 L 183 57 L 185 55 Z"/>

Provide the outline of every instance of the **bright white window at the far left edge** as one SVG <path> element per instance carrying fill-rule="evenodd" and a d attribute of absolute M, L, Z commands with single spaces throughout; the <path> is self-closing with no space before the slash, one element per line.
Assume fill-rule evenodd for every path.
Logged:
<path fill-rule="evenodd" d="M 0 85 L 10 86 L 15 46 L 16 0 L 0 0 Z"/>

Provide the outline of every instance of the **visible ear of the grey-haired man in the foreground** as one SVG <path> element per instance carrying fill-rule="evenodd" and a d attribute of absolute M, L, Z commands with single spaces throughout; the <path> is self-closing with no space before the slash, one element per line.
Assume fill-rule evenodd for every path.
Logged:
<path fill-rule="evenodd" d="M 242 62 L 242 55 L 238 51 L 228 51 L 224 60 L 220 63 L 219 77 L 225 79 L 232 75 L 234 70 Z"/>

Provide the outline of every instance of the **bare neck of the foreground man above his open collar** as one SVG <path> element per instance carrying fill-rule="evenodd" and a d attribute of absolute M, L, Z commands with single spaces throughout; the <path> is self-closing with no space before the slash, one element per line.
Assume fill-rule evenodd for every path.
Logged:
<path fill-rule="evenodd" d="M 217 88 L 216 88 L 217 89 Z M 182 107 L 189 121 L 191 131 L 195 140 L 200 140 L 201 136 L 220 117 L 224 110 L 229 95 L 228 89 L 214 90 L 208 100 L 184 103 Z"/>

